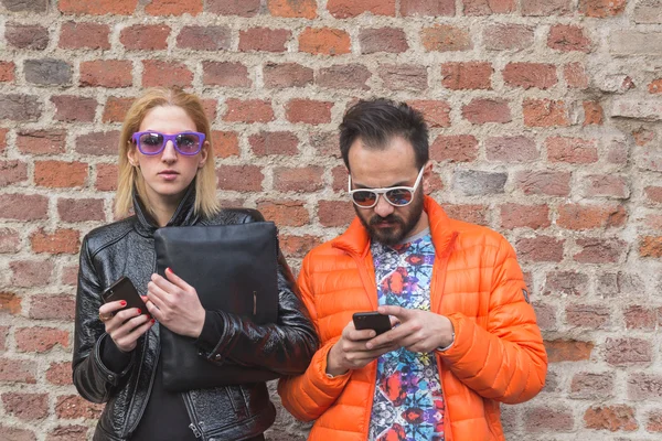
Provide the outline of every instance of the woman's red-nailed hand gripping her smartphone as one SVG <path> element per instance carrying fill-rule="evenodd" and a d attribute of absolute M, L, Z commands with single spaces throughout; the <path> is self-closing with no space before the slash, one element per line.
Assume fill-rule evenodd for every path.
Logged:
<path fill-rule="evenodd" d="M 99 308 L 99 319 L 119 351 L 131 352 L 140 335 L 145 334 L 154 321 L 138 308 L 122 310 L 126 305 L 124 300 L 104 303 Z"/>

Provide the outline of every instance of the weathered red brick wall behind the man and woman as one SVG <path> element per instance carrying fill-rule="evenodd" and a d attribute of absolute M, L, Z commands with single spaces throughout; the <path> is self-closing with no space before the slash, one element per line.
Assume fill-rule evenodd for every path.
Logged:
<path fill-rule="evenodd" d="M 77 250 L 113 220 L 146 86 L 200 94 L 220 197 L 298 266 L 343 230 L 337 126 L 388 96 L 431 126 L 434 196 L 515 246 L 549 354 L 510 440 L 662 435 L 660 0 L 0 0 L 0 439 L 77 440 Z M 277 399 L 277 398 L 276 398 Z M 281 410 L 271 440 L 305 439 Z"/>

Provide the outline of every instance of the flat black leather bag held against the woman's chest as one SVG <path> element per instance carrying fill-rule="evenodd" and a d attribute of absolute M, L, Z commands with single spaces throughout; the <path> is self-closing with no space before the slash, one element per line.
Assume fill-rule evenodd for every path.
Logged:
<path fill-rule="evenodd" d="M 271 222 L 166 227 L 154 233 L 158 272 L 166 268 L 195 288 L 205 310 L 238 314 L 257 324 L 278 319 L 278 236 Z M 267 381 L 277 374 L 223 365 L 199 354 L 194 338 L 160 326 L 163 387 L 171 391 Z"/>

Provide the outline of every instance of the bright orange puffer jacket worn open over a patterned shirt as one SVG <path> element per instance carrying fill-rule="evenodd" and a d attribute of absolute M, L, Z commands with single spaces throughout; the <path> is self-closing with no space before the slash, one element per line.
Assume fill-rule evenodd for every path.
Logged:
<path fill-rule="evenodd" d="M 446 401 L 446 441 L 504 440 L 499 402 L 534 397 L 545 384 L 547 355 L 515 252 L 499 234 L 448 218 L 426 197 L 436 260 L 431 310 L 455 326 L 455 344 L 437 352 Z M 352 314 L 377 308 L 370 238 L 357 218 L 303 260 L 299 287 L 321 348 L 308 370 L 284 378 L 278 392 L 309 440 L 367 439 L 376 362 L 329 378 L 327 354 Z"/>

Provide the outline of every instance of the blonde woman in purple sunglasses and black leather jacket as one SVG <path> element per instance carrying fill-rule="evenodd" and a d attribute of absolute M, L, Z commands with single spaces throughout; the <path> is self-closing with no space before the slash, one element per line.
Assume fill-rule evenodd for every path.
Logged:
<path fill-rule="evenodd" d="M 256 211 L 218 208 L 210 135 L 200 99 L 179 89 L 150 89 L 126 116 L 116 214 L 126 216 L 131 206 L 135 214 L 90 232 L 81 249 L 73 374 L 84 398 L 106 402 L 95 440 L 264 440 L 275 419 L 264 383 L 182 394 L 163 388 L 160 325 L 195 338 L 211 363 L 276 375 L 302 373 L 316 351 L 314 330 L 281 257 L 278 321 L 269 325 L 205 311 L 184 280 L 154 273 L 159 227 L 263 220 Z M 102 292 L 122 276 L 145 308 L 103 302 Z"/>

